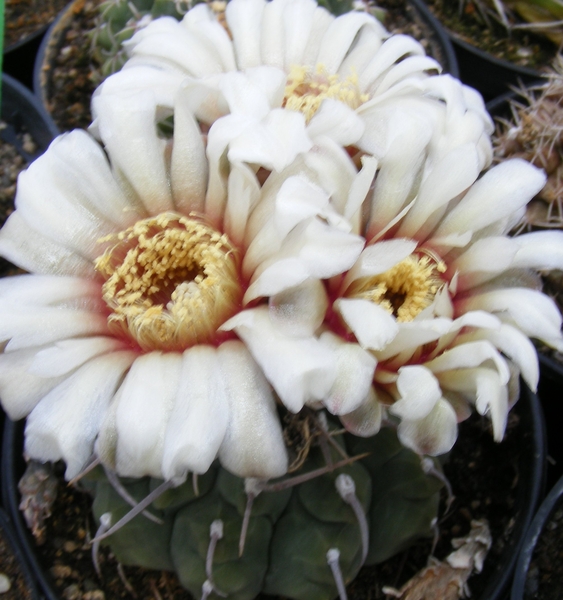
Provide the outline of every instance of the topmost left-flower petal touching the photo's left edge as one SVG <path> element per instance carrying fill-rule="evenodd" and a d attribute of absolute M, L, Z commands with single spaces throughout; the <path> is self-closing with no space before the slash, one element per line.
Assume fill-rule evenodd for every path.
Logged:
<path fill-rule="evenodd" d="M 93 277 L 93 263 L 33 229 L 18 211 L 0 230 L 0 254 L 21 269 L 48 275 Z"/>

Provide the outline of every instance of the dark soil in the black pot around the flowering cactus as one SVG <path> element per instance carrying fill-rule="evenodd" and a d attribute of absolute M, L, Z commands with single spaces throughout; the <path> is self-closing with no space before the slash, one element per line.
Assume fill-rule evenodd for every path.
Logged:
<path fill-rule="evenodd" d="M 451 539 L 467 535 L 472 519 L 486 518 L 494 540 L 483 573 L 470 579 L 473 598 L 480 597 L 490 580 L 514 527 L 516 494 L 522 483 L 518 464 L 525 450 L 522 433 L 523 423 L 513 412 L 506 438 L 497 444 L 489 423 L 474 415 L 460 425 L 458 443 L 444 465 L 455 499 L 448 514 L 444 515 L 444 508 L 441 509 L 444 516 L 439 523 L 440 536 L 434 555 L 443 559 L 449 554 Z M 100 558 L 100 581 L 92 566 L 88 543 L 94 532 L 89 496 L 61 480 L 53 516 L 47 521 L 47 541 L 37 548 L 39 560 L 52 577 L 61 599 L 193 600 L 171 573 L 125 567 L 124 577 L 120 577 L 117 564 L 106 548 Z M 400 587 L 408 581 L 426 566 L 431 547 L 430 540 L 422 540 L 380 565 L 365 567 L 348 586 L 349 599 L 387 598 L 383 586 Z M 273 600 L 266 595 L 259 598 Z"/>

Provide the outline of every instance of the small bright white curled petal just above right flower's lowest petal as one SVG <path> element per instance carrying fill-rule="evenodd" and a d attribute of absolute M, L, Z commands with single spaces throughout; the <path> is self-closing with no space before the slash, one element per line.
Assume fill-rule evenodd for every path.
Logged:
<path fill-rule="evenodd" d="M 440 383 L 422 365 L 407 365 L 399 369 L 397 400 L 389 409 L 402 420 L 418 421 L 430 414 L 442 397 Z"/>

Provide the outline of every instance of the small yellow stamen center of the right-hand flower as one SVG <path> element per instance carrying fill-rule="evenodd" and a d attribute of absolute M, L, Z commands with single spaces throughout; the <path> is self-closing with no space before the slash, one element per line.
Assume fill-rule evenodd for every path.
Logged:
<path fill-rule="evenodd" d="M 411 254 L 385 273 L 358 279 L 346 295 L 379 304 L 397 321 L 412 321 L 434 300 L 445 270 L 437 257 Z"/>

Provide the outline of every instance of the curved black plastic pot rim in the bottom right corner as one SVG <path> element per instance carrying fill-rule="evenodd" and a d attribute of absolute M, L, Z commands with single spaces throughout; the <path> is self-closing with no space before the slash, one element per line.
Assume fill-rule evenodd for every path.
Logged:
<path fill-rule="evenodd" d="M 520 556 L 518 557 L 518 563 L 516 565 L 516 571 L 514 573 L 514 581 L 512 583 L 511 600 L 522 600 L 526 593 L 526 580 L 528 578 L 528 570 L 532 561 L 534 550 L 536 549 L 538 540 L 544 531 L 545 526 L 550 520 L 551 515 L 554 513 L 556 508 L 561 508 L 561 502 L 563 500 L 563 477 L 555 484 L 545 500 L 542 502 L 530 529 L 526 534 Z M 558 560 L 554 556 L 554 560 Z"/>

